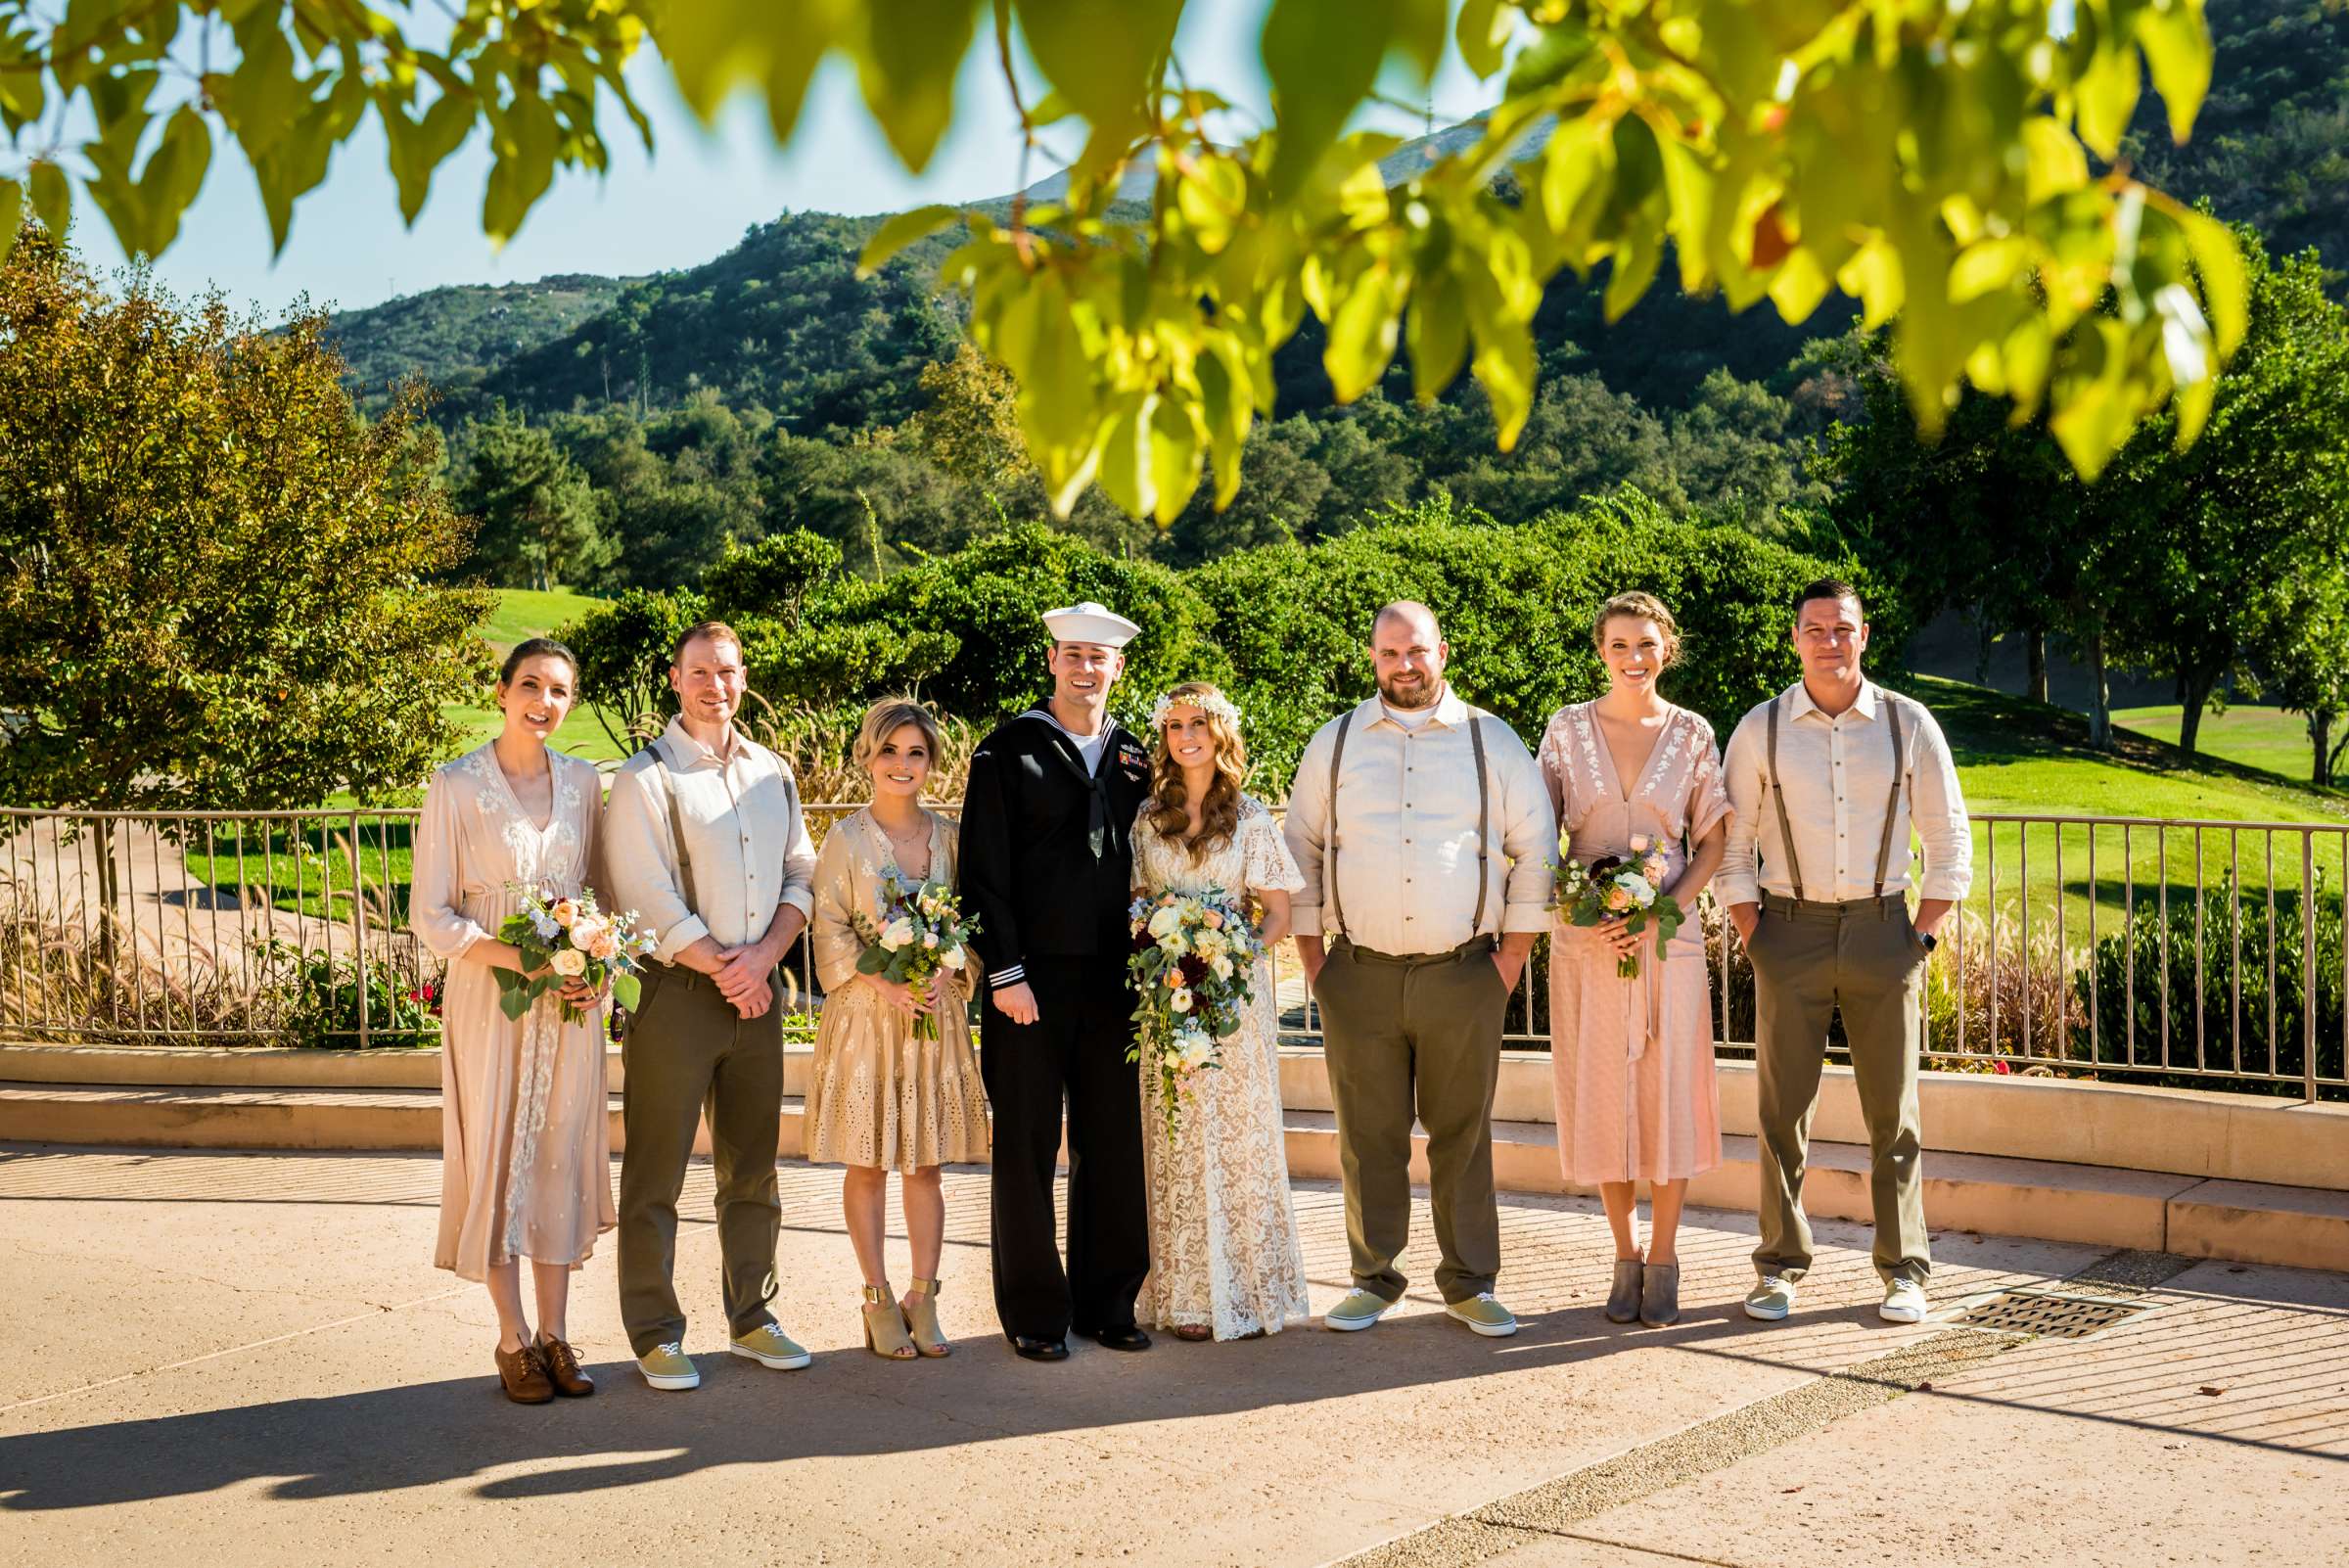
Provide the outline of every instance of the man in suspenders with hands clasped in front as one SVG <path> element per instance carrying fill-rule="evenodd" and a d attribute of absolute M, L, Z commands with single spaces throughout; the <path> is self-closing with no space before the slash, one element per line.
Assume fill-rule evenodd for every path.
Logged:
<path fill-rule="evenodd" d="M 604 807 L 606 899 L 634 908 L 658 948 L 622 1042 L 620 1317 L 637 1371 L 660 1390 L 700 1385 L 677 1300 L 677 1195 L 707 1103 L 716 1164 L 728 1354 L 799 1368 L 775 1324 L 775 1141 L 782 1014 L 775 967 L 815 906 L 815 845 L 789 765 L 735 728 L 747 674 L 723 622 L 688 629 L 669 657 L 679 714 L 627 758 Z"/>

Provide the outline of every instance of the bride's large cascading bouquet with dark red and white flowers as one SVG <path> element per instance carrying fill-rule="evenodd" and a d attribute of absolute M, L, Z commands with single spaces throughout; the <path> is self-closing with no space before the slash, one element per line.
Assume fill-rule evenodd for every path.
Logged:
<path fill-rule="evenodd" d="M 1172 1138 L 1184 1096 L 1200 1073 L 1221 1066 L 1221 1040 L 1240 1028 L 1264 937 L 1240 899 L 1221 887 L 1135 899 L 1128 915 L 1135 932 L 1128 972 L 1142 1002 L 1125 1059 L 1158 1075 Z"/>

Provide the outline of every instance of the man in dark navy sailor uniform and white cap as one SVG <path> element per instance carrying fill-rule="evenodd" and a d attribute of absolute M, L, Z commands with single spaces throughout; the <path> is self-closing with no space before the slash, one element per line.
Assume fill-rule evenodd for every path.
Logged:
<path fill-rule="evenodd" d="M 980 1075 L 996 1115 L 996 1317 L 1029 1361 L 1069 1357 L 1069 1329 L 1149 1350 L 1135 1293 L 1151 1268 L 1142 1099 L 1125 1061 L 1132 824 L 1149 758 L 1109 716 L 1142 627 L 1097 603 L 1050 610 L 1052 697 L 970 758 L 961 892 L 980 918 L 991 1012 Z M 1069 1110 L 1069 1268 L 1052 1221 Z"/>

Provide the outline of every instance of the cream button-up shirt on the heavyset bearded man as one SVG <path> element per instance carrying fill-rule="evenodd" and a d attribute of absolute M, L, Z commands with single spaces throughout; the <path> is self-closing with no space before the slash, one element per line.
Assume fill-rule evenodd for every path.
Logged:
<path fill-rule="evenodd" d="M 1485 826 L 1485 920 L 1478 925 L 1478 777 L 1468 721 L 1485 732 L 1492 786 Z M 1557 819 L 1534 756 L 1515 730 L 1445 688 L 1416 730 L 1377 697 L 1353 711 L 1339 763 L 1337 822 L 1330 751 L 1337 721 L 1297 763 L 1285 836 L 1306 885 L 1292 899 L 1294 930 L 1344 934 L 1374 953 L 1445 953 L 1492 932 L 1550 925 L 1550 861 Z M 1337 861 L 1337 908 L 1325 876 Z"/>

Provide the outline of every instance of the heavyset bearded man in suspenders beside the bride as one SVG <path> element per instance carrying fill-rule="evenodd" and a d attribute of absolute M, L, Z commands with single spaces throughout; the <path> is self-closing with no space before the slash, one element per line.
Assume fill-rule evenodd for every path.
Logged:
<path fill-rule="evenodd" d="M 1290 789 L 1297 955 L 1320 1002 L 1346 1181 L 1355 1289 L 1322 1317 L 1341 1331 L 1402 1298 L 1414 1115 L 1445 1310 L 1475 1333 L 1517 1331 L 1492 1293 L 1492 1094 L 1508 993 L 1550 922 L 1557 819 L 1525 742 L 1445 683 L 1449 653 L 1426 606 L 1379 610 L 1379 695 L 1313 735 Z"/>

